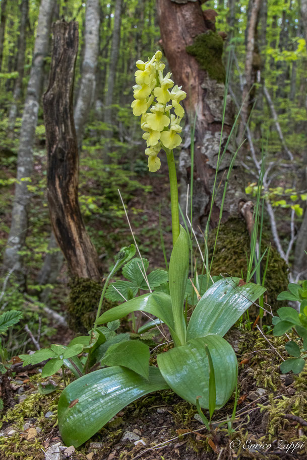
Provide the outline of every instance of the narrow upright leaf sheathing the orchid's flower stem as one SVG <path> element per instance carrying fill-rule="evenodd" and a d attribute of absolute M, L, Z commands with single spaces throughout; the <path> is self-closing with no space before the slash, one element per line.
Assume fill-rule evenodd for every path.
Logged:
<path fill-rule="evenodd" d="M 179 339 L 179 344 L 186 343 L 187 335 L 185 317 L 183 316 L 183 302 L 189 273 L 189 254 L 188 235 L 180 225 L 180 233 L 171 252 L 168 272 L 174 331 Z M 160 317 L 160 319 L 162 318 Z"/>

